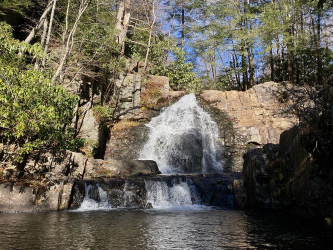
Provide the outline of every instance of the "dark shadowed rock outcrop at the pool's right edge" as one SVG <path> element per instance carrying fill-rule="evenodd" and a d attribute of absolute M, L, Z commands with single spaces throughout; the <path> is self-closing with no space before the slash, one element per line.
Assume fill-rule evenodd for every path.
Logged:
<path fill-rule="evenodd" d="M 249 150 L 243 176 L 249 206 L 314 217 L 333 211 L 333 169 L 312 158 L 297 127 L 284 131 L 280 144 Z"/>

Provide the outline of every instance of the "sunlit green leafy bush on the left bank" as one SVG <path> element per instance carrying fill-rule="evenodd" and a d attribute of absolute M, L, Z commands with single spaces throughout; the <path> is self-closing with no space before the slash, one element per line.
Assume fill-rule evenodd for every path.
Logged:
<path fill-rule="evenodd" d="M 19 42 L 7 24 L 0 23 L 0 137 L 19 146 L 17 162 L 35 148 L 66 147 L 77 96 L 52 86 L 50 74 L 26 63 L 26 53 L 40 59 L 38 43 Z M 25 53 L 19 56 L 17 52 Z"/>

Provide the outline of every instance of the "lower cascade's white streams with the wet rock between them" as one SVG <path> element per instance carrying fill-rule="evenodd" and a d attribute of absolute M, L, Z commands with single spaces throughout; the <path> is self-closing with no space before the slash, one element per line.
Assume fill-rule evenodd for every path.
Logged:
<path fill-rule="evenodd" d="M 166 208 L 200 204 L 196 187 L 188 178 L 175 176 L 163 179 L 126 180 L 120 183 L 84 183 L 84 195 L 74 203 L 80 204 L 77 211 L 107 210 L 119 207 Z M 103 189 L 104 188 L 104 189 Z M 82 188 L 83 189 L 83 188 Z M 76 188 L 76 193 L 83 190 Z M 75 195 L 74 195 L 75 197 Z M 77 196 L 76 196 L 77 197 Z"/>

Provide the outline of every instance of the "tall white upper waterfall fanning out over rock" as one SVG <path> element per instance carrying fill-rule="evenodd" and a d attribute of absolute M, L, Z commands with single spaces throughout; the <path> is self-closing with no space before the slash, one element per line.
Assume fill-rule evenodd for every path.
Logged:
<path fill-rule="evenodd" d="M 149 138 L 139 158 L 156 161 L 162 173 L 222 171 L 217 124 L 194 94 L 163 109 L 147 126 Z"/>

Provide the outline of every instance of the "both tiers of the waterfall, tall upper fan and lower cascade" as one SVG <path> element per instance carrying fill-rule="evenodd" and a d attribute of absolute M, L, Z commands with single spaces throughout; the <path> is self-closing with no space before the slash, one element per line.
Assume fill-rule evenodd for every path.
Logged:
<path fill-rule="evenodd" d="M 149 138 L 140 158 L 155 160 L 162 173 L 222 172 L 217 124 L 198 106 L 194 94 L 185 95 L 162 110 L 147 126 Z M 202 195 L 198 194 L 197 178 L 194 185 L 193 176 L 197 175 L 160 175 L 81 185 L 77 191 L 85 190 L 85 195 L 77 195 L 81 202 L 78 210 L 151 206 L 196 209 L 202 203 Z"/>

